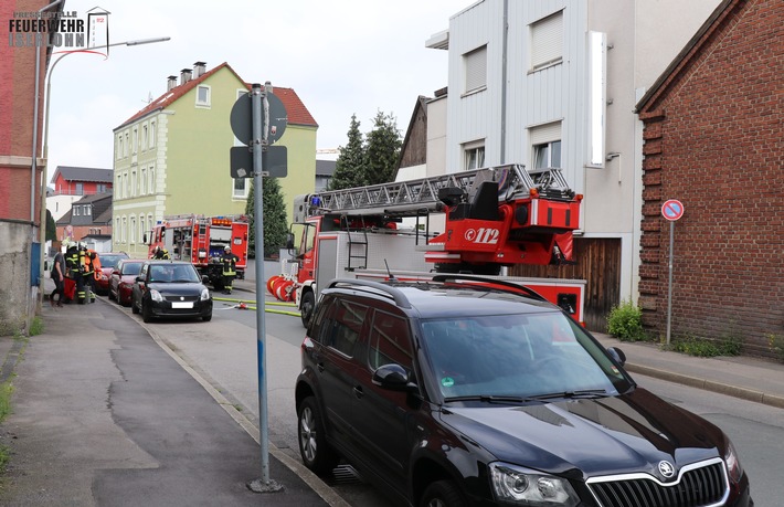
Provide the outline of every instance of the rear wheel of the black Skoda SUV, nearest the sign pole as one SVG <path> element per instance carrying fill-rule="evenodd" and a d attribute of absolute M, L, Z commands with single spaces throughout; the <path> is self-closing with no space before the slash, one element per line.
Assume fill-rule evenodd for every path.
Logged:
<path fill-rule="evenodd" d="M 330 474 L 338 464 L 338 455 L 327 444 L 321 413 L 314 397 L 308 397 L 299 403 L 297 419 L 303 463 L 318 475 Z"/>

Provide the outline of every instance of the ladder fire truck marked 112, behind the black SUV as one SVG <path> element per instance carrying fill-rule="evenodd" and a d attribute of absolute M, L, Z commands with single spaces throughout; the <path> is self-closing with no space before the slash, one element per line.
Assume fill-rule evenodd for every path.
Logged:
<path fill-rule="evenodd" d="M 307 326 L 319 287 L 336 277 L 470 273 L 528 287 L 582 323 L 585 281 L 501 276 L 516 264 L 571 263 L 581 201 L 560 169 L 522 165 L 299 196 L 288 245 L 295 258 L 267 289 L 296 300 Z"/>

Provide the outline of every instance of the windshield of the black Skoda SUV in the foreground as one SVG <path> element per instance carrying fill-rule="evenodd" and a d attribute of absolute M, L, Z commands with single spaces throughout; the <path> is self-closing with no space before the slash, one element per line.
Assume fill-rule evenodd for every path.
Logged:
<path fill-rule="evenodd" d="M 449 399 L 613 395 L 631 383 L 560 313 L 422 320 L 431 368 Z"/>

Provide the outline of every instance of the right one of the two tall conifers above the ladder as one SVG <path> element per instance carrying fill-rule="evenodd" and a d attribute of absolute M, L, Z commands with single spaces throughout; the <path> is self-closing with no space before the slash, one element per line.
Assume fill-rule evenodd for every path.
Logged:
<path fill-rule="evenodd" d="M 393 115 L 378 112 L 365 146 L 365 184 L 394 181 L 403 141 Z"/>

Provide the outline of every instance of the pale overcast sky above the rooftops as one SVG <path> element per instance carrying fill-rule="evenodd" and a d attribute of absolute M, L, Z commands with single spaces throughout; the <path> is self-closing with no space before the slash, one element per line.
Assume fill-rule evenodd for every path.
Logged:
<path fill-rule="evenodd" d="M 167 76 L 197 61 L 208 70 L 227 62 L 247 82 L 294 88 L 319 124 L 318 149 L 347 144 L 352 114 L 369 131 L 379 109 L 393 114 L 404 135 L 416 97 L 447 84 L 447 52 L 425 41 L 472 3 L 65 0 L 78 19 L 95 7 L 110 12 L 112 43 L 171 40 L 112 47 L 107 60 L 76 53 L 56 65 L 49 177 L 57 166 L 112 168 L 112 129 L 162 95 Z"/>

